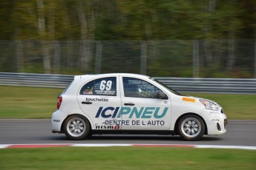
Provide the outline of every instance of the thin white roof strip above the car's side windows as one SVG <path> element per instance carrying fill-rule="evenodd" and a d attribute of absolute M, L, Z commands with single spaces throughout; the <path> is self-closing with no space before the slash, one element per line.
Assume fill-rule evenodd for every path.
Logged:
<path fill-rule="evenodd" d="M 96 75 L 75 75 L 74 79 L 91 79 L 91 78 L 102 78 L 102 77 L 114 77 L 114 76 L 129 76 L 136 78 L 149 78 L 147 75 L 139 75 L 134 73 L 106 73 L 106 74 L 96 74 Z"/>

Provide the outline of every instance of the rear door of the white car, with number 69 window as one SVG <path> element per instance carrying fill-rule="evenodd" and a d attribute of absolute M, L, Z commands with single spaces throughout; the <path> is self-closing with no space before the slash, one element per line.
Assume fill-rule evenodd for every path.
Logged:
<path fill-rule="evenodd" d="M 93 120 L 92 129 L 120 129 L 122 112 L 118 89 L 118 77 L 97 78 L 80 89 L 77 100 L 82 112 Z"/>

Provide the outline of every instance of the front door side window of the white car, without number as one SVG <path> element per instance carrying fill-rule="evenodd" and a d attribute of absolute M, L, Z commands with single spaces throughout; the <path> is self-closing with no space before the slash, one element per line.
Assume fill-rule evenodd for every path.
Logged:
<path fill-rule="evenodd" d="M 122 78 L 125 97 L 157 98 L 157 92 L 162 92 L 156 86 L 138 78 Z"/>

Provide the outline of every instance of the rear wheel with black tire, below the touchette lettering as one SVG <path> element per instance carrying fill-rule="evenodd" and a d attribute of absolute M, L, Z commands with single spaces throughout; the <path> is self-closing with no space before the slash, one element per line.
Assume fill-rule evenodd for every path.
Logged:
<path fill-rule="evenodd" d="M 87 118 L 82 115 L 71 115 L 63 124 L 65 135 L 71 140 L 83 140 L 91 132 Z"/>

